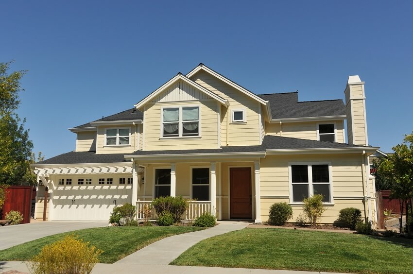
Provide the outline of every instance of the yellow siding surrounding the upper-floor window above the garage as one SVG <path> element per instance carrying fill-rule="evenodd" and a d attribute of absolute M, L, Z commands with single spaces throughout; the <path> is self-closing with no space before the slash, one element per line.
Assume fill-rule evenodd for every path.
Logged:
<path fill-rule="evenodd" d="M 106 146 L 105 145 L 105 130 L 116 128 L 130 128 L 130 140 L 128 146 Z M 97 141 L 97 154 L 110 154 L 110 153 L 132 153 L 137 148 L 137 139 L 135 138 L 135 125 L 123 124 L 116 126 L 98 126 L 98 141 Z"/>

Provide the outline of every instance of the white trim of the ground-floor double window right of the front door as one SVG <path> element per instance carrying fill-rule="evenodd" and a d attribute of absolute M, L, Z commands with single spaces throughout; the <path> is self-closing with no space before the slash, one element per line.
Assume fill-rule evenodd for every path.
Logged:
<path fill-rule="evenodd" d="M 294 197 L 293 197 L 293 174 L 291 170 L 291 166 L 295 165 L 307 165 L 307 172 L 309 175 L 309 182 L 308 183 L 294 183 L 294 184 L 308 184 L 309 185 L 309 196 L 314 194 L 313 190 L 313 184 L 315 185 L 320 185 L 320 184 L 327 184 L 327 183 L 313 183 L 312 182 L 312 165 L 328 165 L 328 179 L 329 179 L 329 184 L 330 184 L 330 202 L 323 202 L 324 205 L 327 206 L 334 206 L 334 197 L 333 197 L 333 180 L 332 180 L 332 165 L 331 162 L 324 161 L 324 162 L 289 162 L 288 163 L 288 181 L 289 181 L 289 197 L 290 197 L 290 204 L 291 205 L 296 205 L 296 206 L 301 206 L 303 205 L 303 202 L 294 202 Z"/>

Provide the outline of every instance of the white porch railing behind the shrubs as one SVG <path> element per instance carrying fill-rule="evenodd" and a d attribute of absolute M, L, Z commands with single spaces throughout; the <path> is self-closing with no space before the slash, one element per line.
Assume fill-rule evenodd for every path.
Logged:
<path fill-rule="evenodd" d="M 137 201 L 136 202 L 136 212 L 137 212 L 137 219 L 143 220 L 145 219 L 143 214 L 143 209 L 145 206 L 151 206 L 152 201 Z M 194 220 L 195 218 L 201 216 L 204 212 L 211 212 L 211 201 L 189 201 L 189 208 L 184 213 L 183 220 Z M 213 214 L 213 213 L 212 213 Z M 155 213 L 155 209 L 152 208 L 149 220 L 156 220 L 157 216 Z"/>

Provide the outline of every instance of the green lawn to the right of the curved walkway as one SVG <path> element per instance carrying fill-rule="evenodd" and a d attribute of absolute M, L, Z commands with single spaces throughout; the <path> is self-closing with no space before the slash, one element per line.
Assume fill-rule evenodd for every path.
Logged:
<path fill-rule="evenodd" d="M 413 240 L 245 228 L 203 240 L 173 265 L 351 273 L 413 273 Z"/>

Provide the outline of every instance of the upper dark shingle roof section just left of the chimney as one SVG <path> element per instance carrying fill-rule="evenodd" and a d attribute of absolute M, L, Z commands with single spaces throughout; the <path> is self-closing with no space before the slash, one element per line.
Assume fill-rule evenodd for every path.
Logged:
<path fill-rule="evenodd" d="M 269 101 L 273 119 L 345 115 L 343 100 L 298 102 L 298 92 L 258 94 Z"/>

